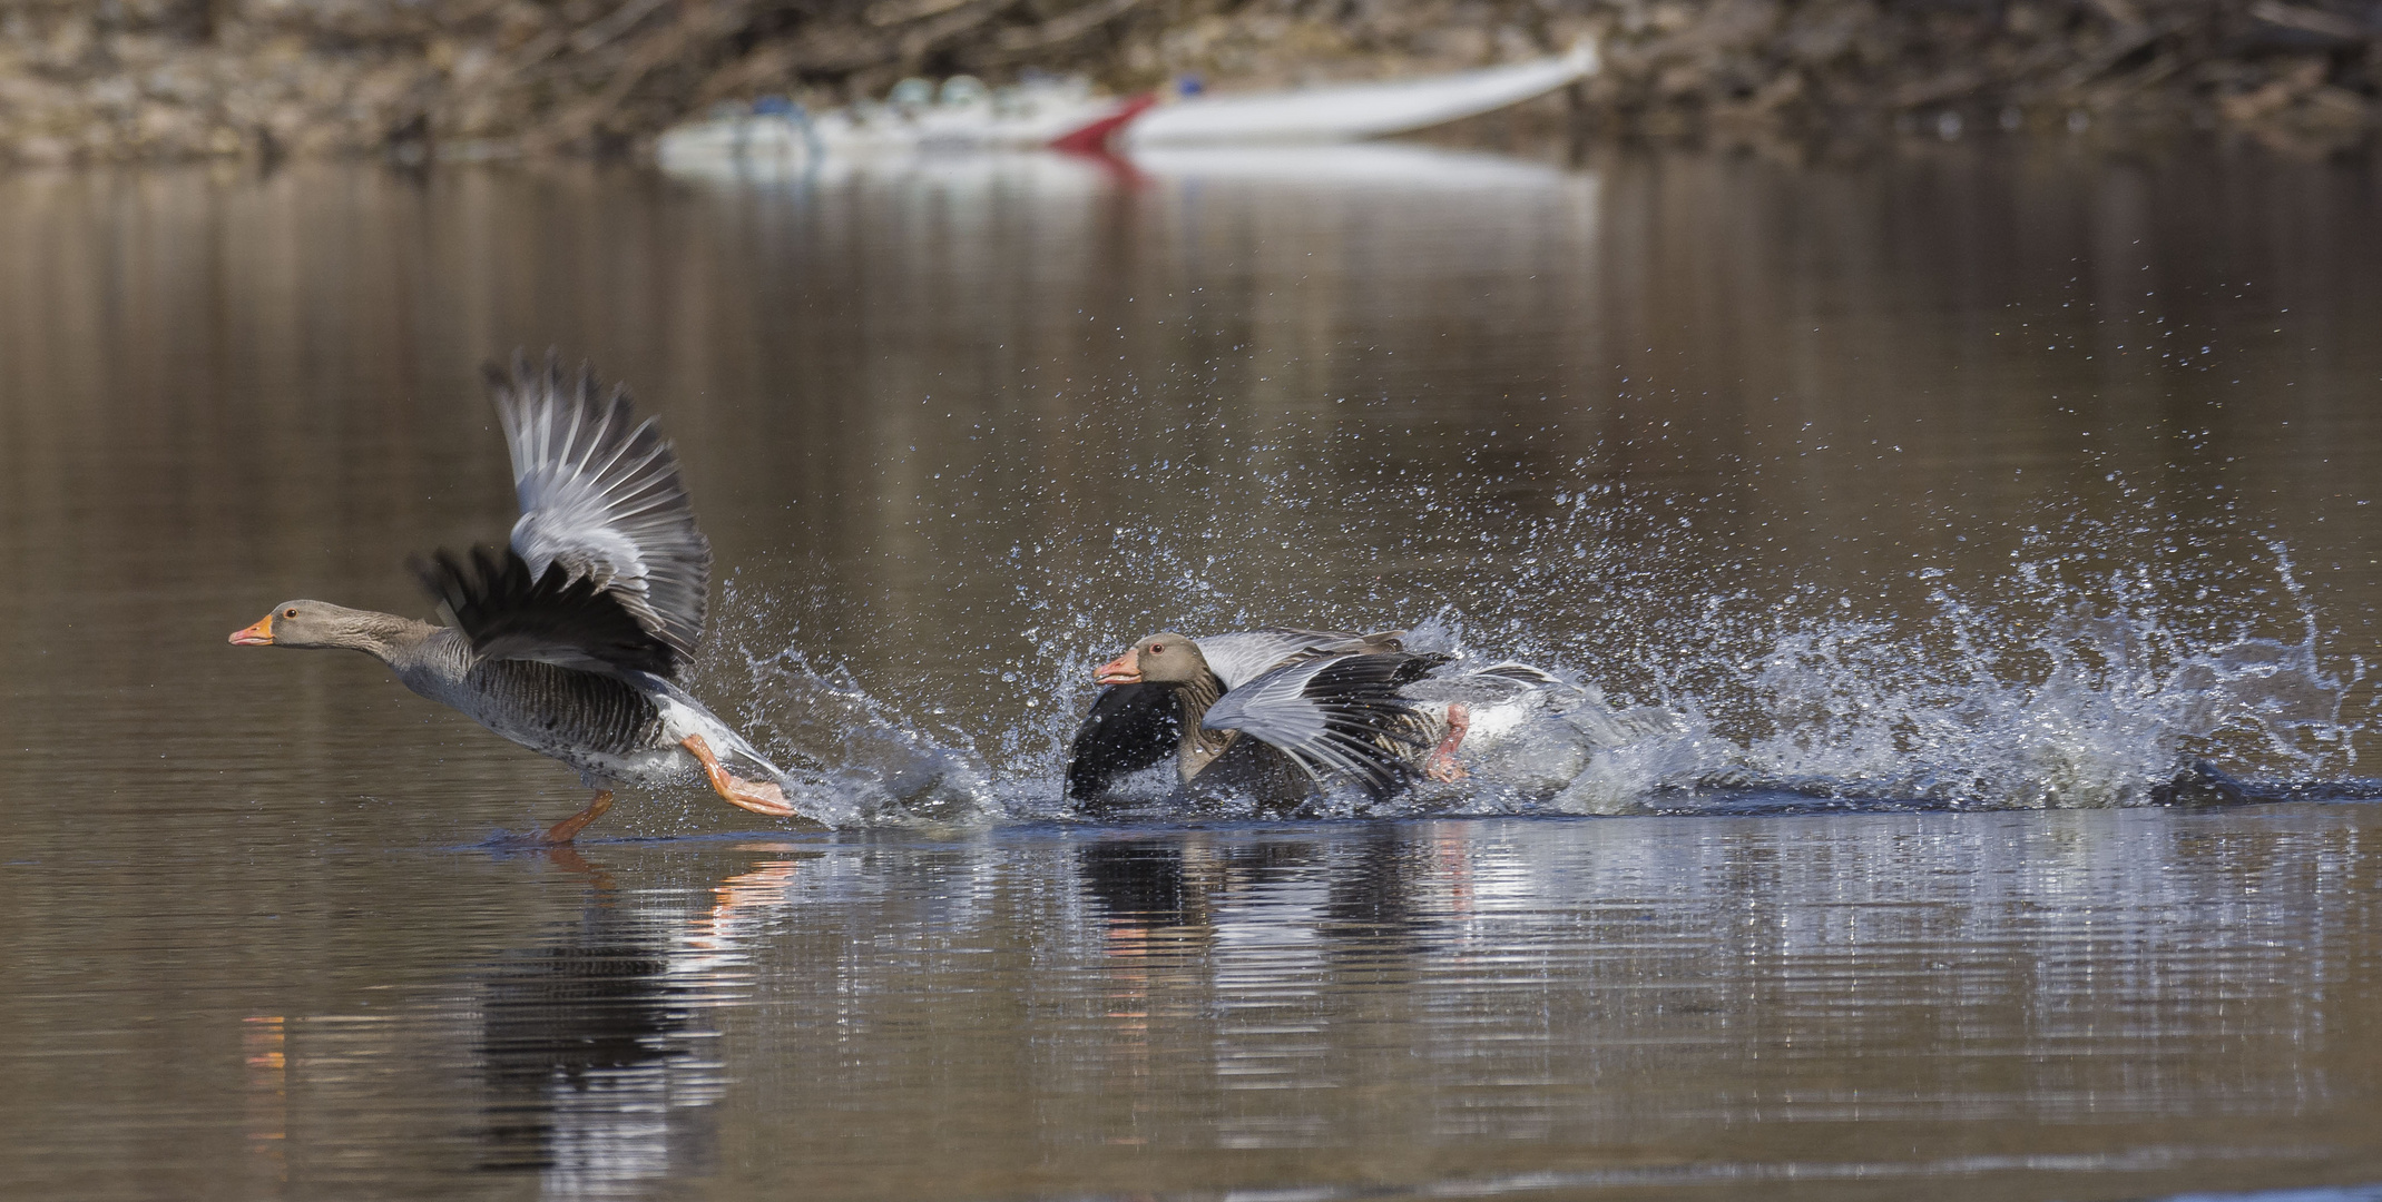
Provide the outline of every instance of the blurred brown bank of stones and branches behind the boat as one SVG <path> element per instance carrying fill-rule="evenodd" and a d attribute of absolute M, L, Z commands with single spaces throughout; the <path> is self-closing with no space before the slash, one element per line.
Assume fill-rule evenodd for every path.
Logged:
<path fill-rule="evenodd" d="M 2363 145 L 2363 0 L 0 0 L 0 155 L 629 152 L 719 102 L 900 76 L 1220 88 L 1605 43 L 1598 136 L 2232 129 Z"/>

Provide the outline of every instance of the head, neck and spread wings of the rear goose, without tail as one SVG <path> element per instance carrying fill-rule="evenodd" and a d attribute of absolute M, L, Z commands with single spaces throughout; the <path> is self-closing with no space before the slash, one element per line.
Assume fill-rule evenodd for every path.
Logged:
<path fill-rule="evenodd" d="M 1098 797 L 1170 752 L 1184 785 L 1260 805 L 1296 805 L 1327 778 L 1386 797 L 1413 778 L 1417 759 L 1424 771 L 1446 771 L 1432 724 L 1398 688 L 1448 657 L 1405 652 L 1401 636 L 1148 636 L 1093 674 L 1108 688 L 1074 733 L 1067 793 Z"/>

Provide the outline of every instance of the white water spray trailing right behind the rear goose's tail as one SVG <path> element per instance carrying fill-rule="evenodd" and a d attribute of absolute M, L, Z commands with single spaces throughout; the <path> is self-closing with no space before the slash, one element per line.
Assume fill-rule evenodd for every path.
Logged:
<path fill-rule="evenodd" d="M 2277 550 L 2289 583 L 2289 557 Z M 1567 793 L 1586 812 L 1663 790 L 1786 790 L 1944 807 L 2146 805 L 2194 759 L 2270 778 L 2344 776 L 2344 719 L 2365 664 L 2320 664 L 2301 640 L 2199 640 L 2149 593 L 2110 581 L 2113 609 L 2075 600 L 2049 621 L 1934 593 L 1920 631 L 1851 616 L 1779 621 L 1744 695 L 1710 716 L 1686 697 L 1672 743 L 1625 747 Z M 2306 605 L 2306 597 L 2299 597 Z"/>

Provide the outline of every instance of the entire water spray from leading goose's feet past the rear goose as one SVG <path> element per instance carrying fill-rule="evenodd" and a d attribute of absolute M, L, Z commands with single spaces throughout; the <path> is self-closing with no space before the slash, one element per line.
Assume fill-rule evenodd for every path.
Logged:
<path fill-rule="evenodd" d="M 1582 590 L 1563 576 L 1579 569 L 1565 564 L 1610 569 L 1555 552 L 1615 545 L 1598 524 L 1610 533 L 1627 519 L 1589 519 L 1594 505 L 1610 512 L 1610 497 L 1579 497 L 1520 536 L 1524 555 L 1508 552 L 1532 578 L 1524 600 L 1544 597 L 1555 614 L 1579 609 Z M 2368 671 L 2363 659 L 2327 659 L 2289 550 L 2268 543 L 2227 581 L 2230 597 L 2258 600 L 2227 614 L 2206 602 L 2208 588 L 2180 602 L 2175 574 L 2094 569 L 2108 559 L 2096 547 L 2113 543 L 2122 538 L 2106 528 L 2034 531 L 2006 578 L 1963 593 L 1939 571 L 1915 574 L 1927 593 L 1884 614 L 1813 586 L 1694 588 L 1665 581 L 1660 566 L 1641 569 L 1639 593 L 1613 588 L 1608 574 L 1603 595 L 1622 600 L 1608 600 L 1586 636 L 1517 616 L 1513 593 L 1486 614 L 1446 602 L 1413 626 L 1410 645 L 1474 666 L 1520 655 L 1555 671 L 1570 690 L 1563 721 L 1596 745 L 1594 759 L 1560 788 L 1486 776 L 1389 802 L 1329 793 L 1303 814 L 1734 812 L 1748 797 L 1772 809 L 2122 807 L 2168 797 L 2196 762 L 2261 781 L 2339 781 L 2361 795 L 2351 774 Z M 1634 547 L 1644 555 L 1646 543 Z M 1158 559 L 1184 569 L 1170 586 L 1181 619 L 1162 626 L 1198 636 L 1267 621 L 1224 590 L 1196 588 L 1191 564 Z M 1093 695 L 1091 669 L 1151 621 L 1048 588 L 1029 612 L 1029 650 L 998 669 L 1000 695 L 1027 702 L 934 728 L 872 697 L 850 671 L 817 669 L 786 645 L 784 624 L 746 621 L 746 647 L 760 647 L 743 655 L 748 721 L 767 747 L 817 764 L 812 812 L 836 826 L 1084 816 L 1060 776 Z M 774 640 L 765 628 L 779 631 Z M 1634 640 L 1632 655 L 1591 655 L 1620 645 L 1615 631 Z M 1639 681 L 1625 683 L 1629 669 Z M 1146 785 L 1131 814 L 1184 814 L 1165 781 Z"/>

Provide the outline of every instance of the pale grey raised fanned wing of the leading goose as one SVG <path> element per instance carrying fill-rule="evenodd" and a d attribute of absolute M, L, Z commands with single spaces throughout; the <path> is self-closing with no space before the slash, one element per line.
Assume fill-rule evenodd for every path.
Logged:
<path fill-rule="evenodd" d="M 679 457 L 660 428 L 636 419 L 629 390 L 603 393 L 593 371 L 565 378 L 555 355 L 531 369 L 488 367 L 512 450 L 512 486 L 522 519 L 512 552 L 534 583 L 550 569 L 612 597 L 679 659 L 703 640 L 710 605 L 712 545 L 679 478 Z"/>

